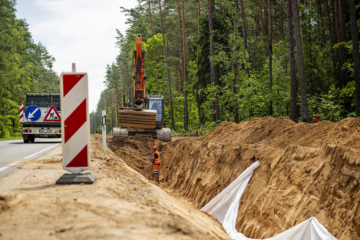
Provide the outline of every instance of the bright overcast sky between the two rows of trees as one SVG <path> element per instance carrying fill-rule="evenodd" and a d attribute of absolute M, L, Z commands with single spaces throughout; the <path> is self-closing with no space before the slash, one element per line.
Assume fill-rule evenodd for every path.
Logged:
<path fill-rule="evenodd" d="M 35 43 L 42 42 L 56 59 L 54 71 L 87 72 L 89 79 L 89 112 L 96 109 L 106 64 L 111 64 L 118 28 L 128 27 L 120 6 L 133 8 L 135 0 L 17 0 L 17 17 L 25 18 Z"/>

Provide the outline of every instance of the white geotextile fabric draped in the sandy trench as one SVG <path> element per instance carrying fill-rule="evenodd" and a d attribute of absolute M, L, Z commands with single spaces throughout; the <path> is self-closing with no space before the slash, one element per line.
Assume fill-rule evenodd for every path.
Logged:
<path fill-rule="evenodd" d="M 253 171 L 260 166 L 259 162 L 252 164 L 228 187 L 215 196 L 201 210 L 209 213 L 222 223 L 226 233 L 236 240 L 251 240 L 235 229 L 239 212 L 241 196 L 250 181 Z M 336 237 L 318 222 L 315 217 L 299 223 L 288 230 L 266 240 L 336 240 Z"/>

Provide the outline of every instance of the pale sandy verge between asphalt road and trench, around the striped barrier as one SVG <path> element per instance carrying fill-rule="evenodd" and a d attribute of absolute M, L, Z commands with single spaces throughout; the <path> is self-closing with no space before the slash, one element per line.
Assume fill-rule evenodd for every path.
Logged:
<path fill-rule="evenodd" d="M 0 239 L 229 239 L 91 140 L 92 185 L 55 185 L 61 146 L 0 178 Z"/>

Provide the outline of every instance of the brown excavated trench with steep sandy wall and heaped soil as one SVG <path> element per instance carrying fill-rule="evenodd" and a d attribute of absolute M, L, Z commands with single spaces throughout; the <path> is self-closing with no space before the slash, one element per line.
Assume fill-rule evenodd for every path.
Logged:
<path fill-rule="evenodd" d="M 314 216 L 338 239 L 360 239 L 360 118 L 309 124 L 265 117 L 168 143 L 108 141 L 148 179 L 153 145 L 161 153 L 160 187 L 199 209 L 259 160 L 237 218 L 247 237 L 271 237 Z"/>

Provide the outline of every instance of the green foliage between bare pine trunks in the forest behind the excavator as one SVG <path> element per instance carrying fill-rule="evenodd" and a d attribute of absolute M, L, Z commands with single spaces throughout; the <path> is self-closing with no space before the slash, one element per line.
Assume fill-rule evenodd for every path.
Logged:
<path fill-rule="evenodd" d="M 272 77 L 273 84 L 269 90 L 268 62 L 268 12 L 264 3 L 254 4 L 243 0 L 247 30 L 247 46 L 245 50 L 240 9 L 235 8 L 232 0 L 213 0 L 213 44 L 215 55 L 210 58 L 209 22 L 207 3 L 203 1 L 184 1 L 185 33 L 186 33 L 186 83 L 183 83 L 183 48 L 182 48 L 182 9 L 179 1 L 162 1 L 165 43 L 170 66 L 170 84 L 175 120 L 176 135 L 190 135 L 197 126 L 207 133 L 219 124 L 211 122 L 212 100 L 217 98 L 219 117 L 221 121 L 247 121 L 255 117 L 269 115 L 269 103 L 273 103 L 272 117 L 291 116 L 289 55 L 287 38 L 287 14 L 284 1 L 273 2 L 273 50 Z M 300 5 L 300 21 L 302 35 L 302 50 L 307 84 L 309 118 L 320 115 L 321 120 L 338 122 L 344 117 L 355 116 L 355 85 L 354 63 L 348 58 L 344 68 L 349 73 L 347 86 L 339 89 L 337 69 L 337 48 L 342 44 L 352 53 L 350 25 L 346 18 L 347 41 L 336 43 L 336 26 L 332 22 L 332 12 L 329 15 L 325 2 L 320 2 L 323 19 L 319 14 L 319 2 L 305 1 Z M 150 5 L 150 6 L 149 6 Z M 196 6 L 196 7 L 195 7 Z M 197 9 L 200 9 L 198 16 Z M 261 12 L 260 12 L 261 9 Z M 347 9 L 345 9 L 347 11 Z M 106 75 L 107 90 L 100 97 L 96 112 L 91 113 L 96 124 L 92 131 L 100 129 L 100 111 L 118 107 L 117 92 L 126 92 L 126 98 L 132 96 L 133 70 L 132 49 L 135 48 L 137 33 L 143 36 L 143 47 L 146 50 L 147 64 L 147 94 L 158 94 L 163 91 L 169 100 L 166 64 L 162 44 L 159 5 L 157 2 L 138 0 L 138 6 L 124 9 L 128 16 L 129 28 L 123 36 L 119 31 L 117 46 L 120 53 L 116 58 L 115 67 L 108 67 Z M 262 14 L 262 17 L 260 15 Z M 152 17 L 150 21 L 150 15 Z M 179 16 L 180 15 L 180 16 Z M 179 22 L 179 18 L 181 22 Z M 321 26 L 323 21 L 324 28 Z M 360 24 L 359 20 L 358 23 Z M 360 26 L 360 25 L 359 25 Z M 154 31 L 154 43 L 151 27 Z M 332 32 L 330 32 L 332 28 Z M 323 30 L 324 29 L 324 38 Z M 359 28 L 360 29 L 360 28 Z M 335 31 L 334 31 L 335 30 Z M 332 39 L 331 39 L 332 37 Z M 325 41 L 324 41 L 325 40 Z M 296 50 L 296 47 L 295 47 Z M 297 59 L 295 53 L 295 59 Z M 155 65 L 155 55 L 156 62 Z M 216 68 L 217 86 L 210 81 L 210 62 Z M 297 68 L 297 65 L 296 65 Z M 115 70 L 117 69 L 117 70 Z M 247 69 L 249 69 L 247 73 Z M 296 69 L 298 72 L 298 69 Z M 108 80 L 111 76 L 115 80 Z M 300 86 L 297 77 L 297 106 L 300 113 Z M 117 83 L 116 83 L 117 82 Z M 118 90 L 115 90 L 115 83 Z M 120 86 L 120 87 L 119 87 Z M 188 99 L 189 130 L 184 130 L 184 87 Z M 106 97 L 105 97 L 106 96 Z M 96 119 L 95 119 L 96 115 Z M 112 124 L 116 125 L 116 115 L 113 114 Z M 237 119 L 238 118 L 238 119 Z M 110 121 L 110 120 L 109 120 Z M 171 126 L 170 107 L 165 108 L 166 127 Z M 109 130 L 111 131 L 111 130 Z M 202 133 L 201 133 L 202 134 Z"/>

